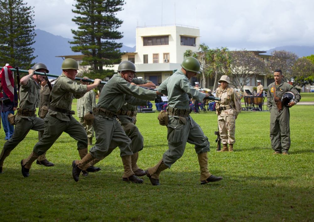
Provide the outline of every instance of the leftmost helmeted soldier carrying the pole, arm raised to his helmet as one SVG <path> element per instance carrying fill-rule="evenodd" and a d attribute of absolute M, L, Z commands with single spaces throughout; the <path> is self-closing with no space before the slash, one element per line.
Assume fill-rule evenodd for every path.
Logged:
<path fill-rule="evenodd" d="M 43 63 L 36 63 L 33 69 L 28 70 L 29 74 L 22 77 L 20 80 L 20 104 L 15 117 L 15 129 L 11 139 L 3 146 L 0 155 L 0 172 L 2 172 L 3 162 L 10 155 L 11 151 L 26 137 L 32 129 L 35 131 L 44 131 L 44 120 L 36 116 L 36 107 L 39 106 L 39 90 L 40 83 L 44 76 L 34 75 L 34 72 L 46 72 L 48 69 Z M 45 158 L 45 153 L 42 153 L 43 158 L 41 164 L 44 166 L 54 166 Z"/>

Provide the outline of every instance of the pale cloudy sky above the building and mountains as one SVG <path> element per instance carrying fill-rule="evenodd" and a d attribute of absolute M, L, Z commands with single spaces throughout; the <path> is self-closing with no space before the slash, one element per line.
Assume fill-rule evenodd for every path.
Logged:
<path fill-rule="evenodd" d="M 36 28 L 73 38 L 73 0 L 24 0 L 34 6 Z M 135 46 L 137 26 L 180 24 L 199 27 L 210 48 L 268 50 L 314 46 L 313 0 L 125 0 L 121 42 Z"/>

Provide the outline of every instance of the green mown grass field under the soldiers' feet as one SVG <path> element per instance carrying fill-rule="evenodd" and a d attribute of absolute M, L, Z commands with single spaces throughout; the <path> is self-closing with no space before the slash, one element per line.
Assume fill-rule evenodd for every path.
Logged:
<path fill-rule="evenodd" d="M 191 114 L 211 143 L 209 171 L 224 178 L 206 185 L 200 185 L 191 144 L 161 173 L 161 186 L 152 186 L 147 177 L 143 184 L 123 182 L 119 149 L 97 164 L 101 171 L 80 176 L 76 183 L 71 163 L 79 156 L 76 141 L 67 134 L 46 154 L 56 165 L 33 164 L 24 178 L 20 160 L 37 142 L 37 132 L 30 131 L 4 162 L 0 221 L 313 221 L 313 106 L 294 106 L 290 114 L 287 156 L 272 155 L 269 112 L 239 114 L 233 153 L 215 151 L 214 112 Z M 167 150 L 167 129 L 157 115 L 138 114 L 145 139 L 138 160 L 142 169 L 155 165 Z M 4 138 L 3 130 L 0 136 Z"/>

